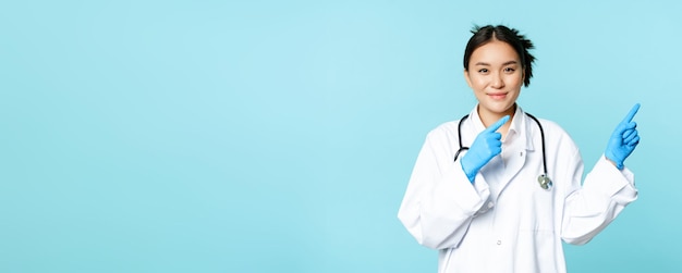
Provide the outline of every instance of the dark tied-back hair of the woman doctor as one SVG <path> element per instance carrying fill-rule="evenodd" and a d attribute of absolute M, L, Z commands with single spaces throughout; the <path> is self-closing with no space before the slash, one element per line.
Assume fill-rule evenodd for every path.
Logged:
<path fill-rule="evenodd" d="M 523 85 L 526 87 L 531 85 L 531 77 L 533 77 L 533 62 L 535 62 L 535 57 L 528 52 L 529 49 L 533 49 L 533 42 L 531 40 L 526 39 L 525 36 L 520 35 L 519 30 L 514 28 L 510 29 L 503 25 L 487 25 L 483 27 L 474 26 L 472 33 L 474 35 L 468 39 L 466 49 L 464 50 L 465 70 L 468 70 L 468 61 L 472 58 L 474 50 L 496 39 L 509 44 L 514 51 L 516 51 L 519 58 L 521 58 L 521 65 L 524 69 L 525 77 L 523 79 Z"/>

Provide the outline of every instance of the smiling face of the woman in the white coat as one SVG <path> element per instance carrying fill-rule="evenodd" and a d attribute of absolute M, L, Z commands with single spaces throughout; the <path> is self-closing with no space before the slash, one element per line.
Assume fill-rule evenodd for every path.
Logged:
<path fill-rule="evenodd" d="M 475 49 L 468 70 L 464 71 L 464 78 L 478 100 L 480 115 L 512 115 L 523 77 L 516 51 L 496 39 Z"/>

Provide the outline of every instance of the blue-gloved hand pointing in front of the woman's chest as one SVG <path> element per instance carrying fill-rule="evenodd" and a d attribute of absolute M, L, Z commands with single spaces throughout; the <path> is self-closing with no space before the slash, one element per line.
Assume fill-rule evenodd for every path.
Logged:
<path fill-rule="evenodd" d="M 484 165 L 502 152 L 502 141 L 500 141 L 502 134 L 496 131 L 504 125 L 507 121 L 509 121 L 509 115 L 504 115 L 495 124 L 480 132 L 474 139 L 472 147 L 462 157 L 462 170 L 471 183 L 474 183 L 476 174 Z"/>

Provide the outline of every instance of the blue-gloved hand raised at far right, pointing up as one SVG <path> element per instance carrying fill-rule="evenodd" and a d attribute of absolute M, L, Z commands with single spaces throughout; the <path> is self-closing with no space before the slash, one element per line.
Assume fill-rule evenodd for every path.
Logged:
<path fill-rule="evenodd" d="M 637 110 L 640 110 L 640 103 L 636 103 L 632 110 L 630 110 L 625 119 L 618 124 L 613 134 L 611 134 L 611 139 L 609 139 L 606 152 L 604 153 L 607 159 L 616 163 L 618 170 L 623 170 L 623 162 L 630 153 L 635 150 L 637 144 L 640 144 L 637 124 L 632 121 Z"/>

